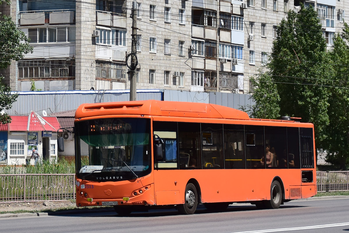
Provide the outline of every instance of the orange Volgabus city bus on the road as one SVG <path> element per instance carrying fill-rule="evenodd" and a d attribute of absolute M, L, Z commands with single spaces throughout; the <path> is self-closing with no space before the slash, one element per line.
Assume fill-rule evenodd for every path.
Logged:
<path fill-rule="evenodd" d="M 156 100 L 82 104 L 75 118 L 77 206 L 193 214 L 317 194 L 311 123 Z"/>

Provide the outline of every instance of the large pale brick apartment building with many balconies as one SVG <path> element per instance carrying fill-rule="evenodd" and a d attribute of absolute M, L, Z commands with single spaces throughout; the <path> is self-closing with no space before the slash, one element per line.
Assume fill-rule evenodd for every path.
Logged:
<path fill-rule="evenodd" d="M 34 52 L 1 71 L 13 91 L 129 89 L 126 64 L 137 14 L 137 89 L 250 92 L 276 28 L 300 3 L 313 6 L 330 46 L 348 0 L 12 0 L 4 14 Z"/>

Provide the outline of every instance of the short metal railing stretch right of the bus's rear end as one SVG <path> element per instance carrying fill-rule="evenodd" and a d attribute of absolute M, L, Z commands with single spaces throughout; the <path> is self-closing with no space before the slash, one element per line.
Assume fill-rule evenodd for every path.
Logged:
<path fill-rule="evenodd" d="M 349 191 L 349 171 L 316 172 L 318 192 Z"/>

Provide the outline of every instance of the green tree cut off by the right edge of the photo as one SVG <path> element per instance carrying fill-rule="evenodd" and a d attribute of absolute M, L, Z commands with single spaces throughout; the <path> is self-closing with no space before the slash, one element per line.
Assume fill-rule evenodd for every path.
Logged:
<path fill-rule="evenodd" d="M 326 148 L 327 161 L 346 169 L 349 164 L 349 27 L 334 38 L 329 55 L 333 65 L 333 85 L 329 99 Z"/>

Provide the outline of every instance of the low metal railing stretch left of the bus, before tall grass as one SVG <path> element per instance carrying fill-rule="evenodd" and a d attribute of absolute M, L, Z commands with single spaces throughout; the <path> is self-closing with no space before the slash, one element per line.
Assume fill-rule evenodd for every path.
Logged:
<path fill-rule="evenodd" d="M 0 203 L 75 199 L 75 174 L 0 175 Z"/>

